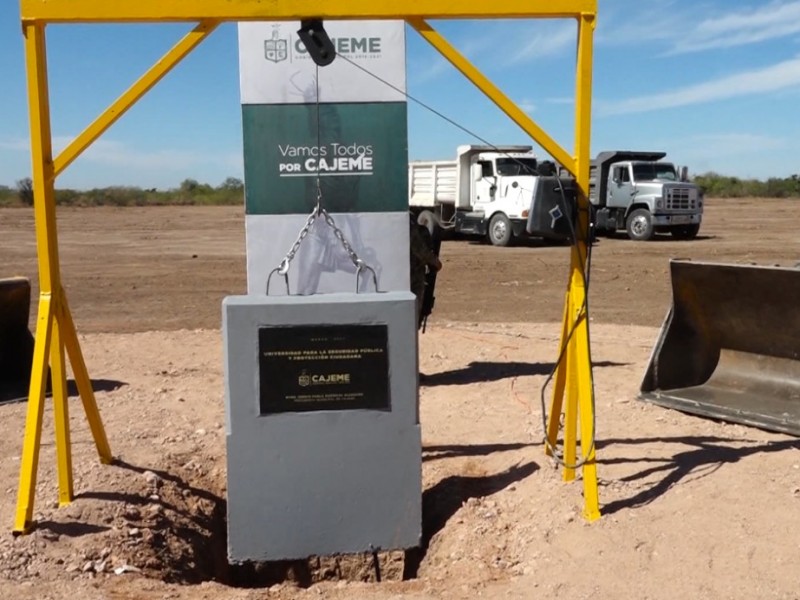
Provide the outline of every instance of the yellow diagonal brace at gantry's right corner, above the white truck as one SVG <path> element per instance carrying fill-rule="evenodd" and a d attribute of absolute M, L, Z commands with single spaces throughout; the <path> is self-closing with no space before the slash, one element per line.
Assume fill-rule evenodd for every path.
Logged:
<path fill-rule="evenodd" d="M 464 56 L 458 52 L 450 43 L 436 32 L 423 19 L 410 19 L 408 23 L 416 29 L 442 56 L 449 60 L 452 65 L 461 71 L 467 79 L 474 83 L 479 90 L 492 100 L 500 110 L 506 113 L 519 125 L 525 133 L 544 148 L 545 151 L 563 165 L 570 173 L 575 172 L 575 160 L 547 133 L 539 127 L 533 119 L 526 115 L 514 104 L 496 85 L 476 69 Z"/>

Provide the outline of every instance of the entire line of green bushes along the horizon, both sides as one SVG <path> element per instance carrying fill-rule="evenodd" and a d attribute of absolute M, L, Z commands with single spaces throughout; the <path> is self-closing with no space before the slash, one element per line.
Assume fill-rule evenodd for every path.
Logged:
<path fill-rule="evenodd" d="M 695 175 L 708 198 L 800 198 L 800 175 L 766 181 L 739 179 L 718 173 Z M 33 187 L 29 178 L 20 179 L 11 188 L 0 185 L 0 206 L 31 206 Z M 63 206 L 166 206 L 166 205 L 237 205 L 244 204 L 244 184 L 228 177 L 217 187 L 186 179 L 171 190 L 138 187 L 107 187 L 93 190 L 56 190 L 56 204 Z"/>

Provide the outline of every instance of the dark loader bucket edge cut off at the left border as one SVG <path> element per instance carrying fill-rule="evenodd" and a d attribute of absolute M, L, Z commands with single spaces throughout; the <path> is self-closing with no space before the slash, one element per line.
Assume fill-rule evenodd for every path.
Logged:
<path fill-rule="evenodd" d="M 0 402 L 28 395 L 33 336 L 28 330 L 31 284 L 24 277 L 0 279 Z"/>

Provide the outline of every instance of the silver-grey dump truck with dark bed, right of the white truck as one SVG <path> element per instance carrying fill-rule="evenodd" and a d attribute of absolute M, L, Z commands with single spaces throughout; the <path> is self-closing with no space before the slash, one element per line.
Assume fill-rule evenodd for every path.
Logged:
<path fill-rule="evenodd" d="M 589 201 L 598 234 L 627 231 L 632 240 L 670 233 L 689 240 L 703 219 L 703 194 L 686 169 L 662 162 L 665 152 L 615 150 L 592 161 Z"/>

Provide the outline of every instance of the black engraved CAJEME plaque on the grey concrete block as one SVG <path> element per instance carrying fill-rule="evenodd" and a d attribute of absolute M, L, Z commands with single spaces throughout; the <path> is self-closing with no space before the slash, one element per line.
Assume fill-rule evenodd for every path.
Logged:
<path fill-rule="evenodd" d="M 260 413 L 389 410 L 387 336 L 383 324 L 260 327 Z"/>

